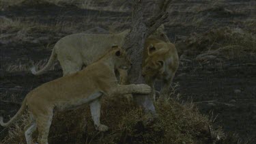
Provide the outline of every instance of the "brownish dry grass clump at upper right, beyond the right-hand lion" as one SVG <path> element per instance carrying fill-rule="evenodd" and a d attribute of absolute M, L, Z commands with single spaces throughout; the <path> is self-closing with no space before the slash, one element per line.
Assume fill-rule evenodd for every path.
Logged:
<path fill-rule="evenodd" d="M 210 29 L 205 33 L 193 33 L 185 40 L 178 42 L 177 48 L 190 55 L 218 50 L 225 55 L 239 57 L 241 53 L 256 53 L 256 38 L 252 33 L 242 29 L 221 27 Z"/>

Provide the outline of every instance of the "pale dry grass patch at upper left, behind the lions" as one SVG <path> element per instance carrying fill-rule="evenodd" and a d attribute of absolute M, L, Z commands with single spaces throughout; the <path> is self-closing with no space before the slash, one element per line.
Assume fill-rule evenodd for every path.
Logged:
<path fill-rule="evenodd" d="M 40 23 L 29 23 L 18 18 L 11 19 L 0 16 L 0 43 L 2 44 L 52 44 L 63 35 L 76 31 L 76 27 L 67 23 L 42 25 Z"/>

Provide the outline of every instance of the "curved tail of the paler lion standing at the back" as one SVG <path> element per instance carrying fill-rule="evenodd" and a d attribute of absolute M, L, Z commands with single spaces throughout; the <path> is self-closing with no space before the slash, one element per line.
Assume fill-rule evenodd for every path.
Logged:
<path fill-rule="evenodd" d="M 35 66 L 33 66 L 32 68 L 30 68 L 32 74 L 34 74 L 34 75 L 44 74 L 44 72 L 46 72 L 49 68 L 51 68 L 51 66 L 53 66 L 53 64 L 56 61 L 56 58 L 57 58 L 57 53 L 55 53 L 55 48 L 53 48 L 51 57 L 48 60 L 48 62 L 46 63 L 46 66 L 44 66 L 44 68 L 42 68 L 41 70 L 38 70 L 38 71 L 35 71 Z"/>

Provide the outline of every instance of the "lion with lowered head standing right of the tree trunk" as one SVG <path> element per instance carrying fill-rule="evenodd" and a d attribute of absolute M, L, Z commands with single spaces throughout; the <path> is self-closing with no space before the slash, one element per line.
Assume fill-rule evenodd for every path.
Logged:
<path fill-rule="evenodd" d="M 154 83 L 161 80 L 163 85 L 159 100 L 166 100 L 169 87 L 179 66 L 179 57 L 175 45 L 171 42 L 163 42 L 156 38 L 148 38 L 145 41 L 142 61 L 142 75 L 147 85 L 152 87 L 150 98 L 156 100 Z"/>

